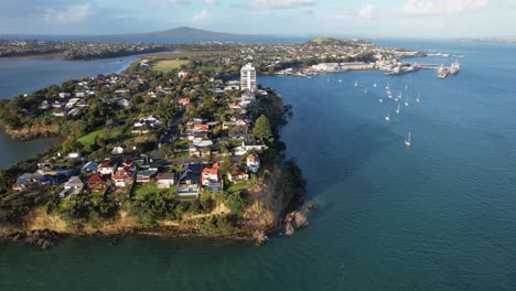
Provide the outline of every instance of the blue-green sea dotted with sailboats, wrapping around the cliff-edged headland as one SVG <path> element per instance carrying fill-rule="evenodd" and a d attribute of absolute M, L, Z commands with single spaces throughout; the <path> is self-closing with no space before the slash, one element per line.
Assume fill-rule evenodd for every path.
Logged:
<path fill-rule="evenodd" d="M 320 208 L 308 228 L 265 247 L 0 241 L 0 290 L 516 290 L 516 46 L 389 44 L 464 55 L 462 69 L 259 77 L 293 106 L 281 136 Z M 399 115 L 386 84 L 409 97 Z"/>

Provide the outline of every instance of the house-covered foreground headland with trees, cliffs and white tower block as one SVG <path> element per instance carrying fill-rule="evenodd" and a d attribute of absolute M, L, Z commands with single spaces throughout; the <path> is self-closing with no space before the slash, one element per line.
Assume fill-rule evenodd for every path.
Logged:
<path fill-rule="evenodd" d="M 251 65 L 147 63 L 1 100 L 11 136 L 64 141 L 0 172 L 0 233 L 44 248 L 52 231 L 264 240 L 301 205 L 278 136 L 289 107 Z"/>

